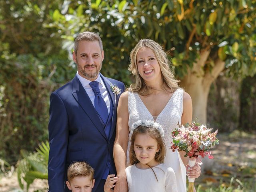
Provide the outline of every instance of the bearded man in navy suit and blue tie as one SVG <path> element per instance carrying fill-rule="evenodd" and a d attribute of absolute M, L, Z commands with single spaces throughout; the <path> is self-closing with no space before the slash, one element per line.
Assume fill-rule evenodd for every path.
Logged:
<path fill-rule="evenodd" d="M 92 192 L 103 192 L 108 174 L 116 174 L 113 160 L 116 109 L 125 86 L 100 74 L 103 59 L 100 36 L 80 33 L 73 52 L 78 72 L 50 96 L 50 192 L 70 191 L 65 182 L 67 168 L 74 161 L 86 161 L 94 168 Z M 120 88 L 120 94 L 113 92 L 111 86 Z"/>

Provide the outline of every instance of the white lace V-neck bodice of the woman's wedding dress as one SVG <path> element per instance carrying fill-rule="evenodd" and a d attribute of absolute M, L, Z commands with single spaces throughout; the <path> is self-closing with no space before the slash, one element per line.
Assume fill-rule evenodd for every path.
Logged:
<path fill-rule="evenodd" d="M 128 112 L 129 112 L 129 131 L 132 124 L 138 120 L 152 120 L 153 116 L 150 114 L 138 93 L 129 92 L 128 94 Z M 183 112 L 183 90 L 177 89 L 173 94 L 162 112 L 156 118 L 156 122 L 164 128 L 164 143 L 166 148 L 171 147 L 172 131 L 176 128 L 178 122 L 181 122 Z M 131 134 L 129 134 L 129 139 Z M 130 149 L 130 146 L 128 146 Z"/>

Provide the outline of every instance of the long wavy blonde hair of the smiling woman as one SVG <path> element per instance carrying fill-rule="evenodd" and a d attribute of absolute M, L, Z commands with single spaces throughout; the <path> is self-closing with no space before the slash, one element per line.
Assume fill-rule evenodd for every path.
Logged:
<path fill-rule="evenodd" d="M 137 54 L 140 48 L 148 47 L 154 53 L 158 64 L 160 66 L 162 74 L 162 87 L 168 92 L 174 92 L 179 88 L 178 80 L 174 78 L 174 74 L 170 69 L 171 63 L 168 60 L 166 52 L 164 52 L 163 47 L 151 39 L 142 39 L 130 52 L 130 65 L 128 70 L 132 72 L 132 75 L 135 77 L 135 83 L 130 85 L 128 90 L 132 92 L 138 92 L 140 95 L 146 96 L 151 93 L 152 88 L 147 86 L 144 82 L 144 79 L 138 73 L 137 66 Z"/>

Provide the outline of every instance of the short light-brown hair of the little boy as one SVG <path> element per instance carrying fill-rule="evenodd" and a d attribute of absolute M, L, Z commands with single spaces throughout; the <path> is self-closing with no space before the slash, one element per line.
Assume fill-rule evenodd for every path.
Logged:
<path fill-rule="evenodd" d="M 68 167 L 68 182 L 79 176 L 89 176 L 90 180 L 92 181 L 94 176 L 94 169 L 87 162 L 73 162 Z"/>

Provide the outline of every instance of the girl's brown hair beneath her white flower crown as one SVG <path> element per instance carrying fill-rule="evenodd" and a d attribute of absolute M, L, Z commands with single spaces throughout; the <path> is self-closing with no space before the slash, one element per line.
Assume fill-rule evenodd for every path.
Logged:
<path fill-rule="evenodd" d="M 134 152 L 134 141 L 138 134 L 148 134 L 151 138 L 156 140 L 159 151 L 155 155 L 155 160 L 158 163 L 163 163 L 164 157 L 166 155 L 166 146 L 164 144 L 164 141 L 162 139 L 160 132 L 154 127 L 146 127 L 146 126 L 139 125 L 136 129 L 134 129 L 131 137 L 131 147 L 129 151 L 130 164 L 133 165 L 139 162 Z"/>

